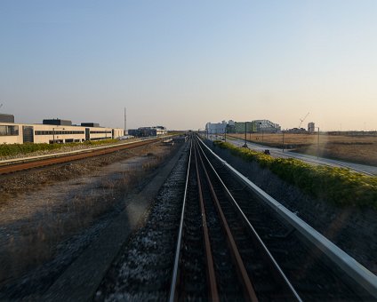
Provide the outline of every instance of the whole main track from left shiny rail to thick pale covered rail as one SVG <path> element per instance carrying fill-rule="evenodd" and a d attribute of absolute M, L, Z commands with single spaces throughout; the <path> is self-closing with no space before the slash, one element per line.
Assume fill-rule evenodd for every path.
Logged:
<path fill-rule="evenodd" d="M 193 139 L 170 301 L 373 300 Z"/>

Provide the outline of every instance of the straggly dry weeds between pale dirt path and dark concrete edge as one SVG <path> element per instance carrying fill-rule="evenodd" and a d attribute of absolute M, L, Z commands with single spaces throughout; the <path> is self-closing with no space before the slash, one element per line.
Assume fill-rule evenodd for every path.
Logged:
<path fill-rule="evenodd" d="M 132 192 L 162 163 L 164 155 L 148 154 L 142 163 L 122 172 L 120 177 L 100 179 L 95 189 L 75 195 L 68 202 L 46 203 L 43 211 L 20 222 L 17 235 L 6 238 L 1 249 L 0 282 L 18 278 L 53 258 L 60 242 L 114 209 L 124 200 L 124 195 Z"/>

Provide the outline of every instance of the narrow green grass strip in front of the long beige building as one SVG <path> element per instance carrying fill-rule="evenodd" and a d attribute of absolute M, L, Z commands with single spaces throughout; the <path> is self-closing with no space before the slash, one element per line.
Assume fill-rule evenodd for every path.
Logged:
<path fill-rule="evenodd" d="M 117 139 L 105 139 L 105 140 L 88 140 L 84 143 L 68 143 L 68 144 L 33 144 L 33 143 L 26 143 L 26 144 L 3 144 L 0 145 L 0 156 L 12 156 L 12 155 L 26 155 L 29 153 L 33 153 L 36 151 L 44 151 L 44 150 L 57 150 L 61 147 L 75 147 L 79 145 L 88 145 L 88 146 L 96 146 L 96 145 L 103 145 L 103 144 L 112 144 L 116 143 Z"/>

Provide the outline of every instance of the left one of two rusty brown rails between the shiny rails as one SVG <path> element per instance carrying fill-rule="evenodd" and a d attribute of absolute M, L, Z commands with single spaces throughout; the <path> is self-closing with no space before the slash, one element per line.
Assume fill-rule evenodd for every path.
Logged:
<path fill-rule="evenodd" d="M 205 199 L 203 197 L 202 181 L 200 179 L 199 167 L 197 165 L 197 147 L 195 148 L 195 166 L 197 171 L 197 189 L 199 194 L 200 210 L 202 214 L 203 236 L 205 240 L 205 259 L 207 260 L 207 276 L 211 291 L 210 300 L 217 302 L 220 301 L 220 298 L 219 291 L 217 289 L 216 274 L 213 266 L 213 253 L 211 250 L 210 234 L 208 231 L 207 219 L 205 216 Z"/>

